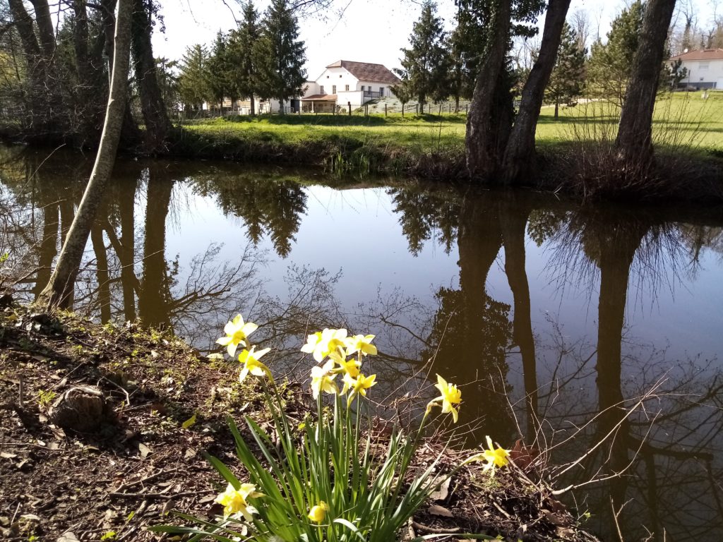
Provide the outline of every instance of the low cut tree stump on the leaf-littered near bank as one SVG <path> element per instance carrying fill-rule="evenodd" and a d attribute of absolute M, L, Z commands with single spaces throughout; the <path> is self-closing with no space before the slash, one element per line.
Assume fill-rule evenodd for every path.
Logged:
<path fill-rule="evenodd" d="M 113 408 L 95 386 L 79 385 L 64 392 L 50 408 L 49 418 L 56 426 L 79 433 L 90 433 L 103 423 L 113 423 Z"/>

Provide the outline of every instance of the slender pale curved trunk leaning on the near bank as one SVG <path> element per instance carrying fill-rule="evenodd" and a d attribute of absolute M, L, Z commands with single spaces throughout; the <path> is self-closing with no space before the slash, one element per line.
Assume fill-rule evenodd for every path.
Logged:
<path fill-rule="evenodd" d="M 48 306 L 67 307 L 72 299 L 75 278 L 80 269 L 90 228 L 93 225 L 100 201 L 103 199 L 108 178 L 113 171 L 126 106 L 131 13 L 132 0 L 119 0 L 113 76 L 103 135 L 100 138 L 93 172 L 90 173 L 80 207 L 78 207 L 67 239 L 63 244 L 53 275 L 41 294 L 41 301 Z"/>

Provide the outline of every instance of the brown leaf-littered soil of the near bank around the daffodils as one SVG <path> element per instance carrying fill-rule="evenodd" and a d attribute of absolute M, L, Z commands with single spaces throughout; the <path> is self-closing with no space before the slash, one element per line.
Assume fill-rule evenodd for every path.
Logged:
<path fill-rule="evenodd" d="M 168 512 L 218 512 L 221 481 L 202 452 L 237 470 L 226 414 L 265 417 L 257 390 L 239 384 L 238 367 L 175 337 L 35 313 L 7 296 L 0 345 L 4 540 L 56 541 L 64 533 L 79 541 L 156 540 L 146 528 L 176 521 Z M 57 426 L 60 399 L 83 386 L 108 401 L 106 418 L 80 432 Z M 286 394 L 290 415 L 303 418 L 307 392 L 288 384 Z M 410 533 L 594 541 L 549 487 L 531 481 L 536 476 L 510 469 L 491 480 L 480 468 L 465 470 L 453 489 L 422 507 Z"/>

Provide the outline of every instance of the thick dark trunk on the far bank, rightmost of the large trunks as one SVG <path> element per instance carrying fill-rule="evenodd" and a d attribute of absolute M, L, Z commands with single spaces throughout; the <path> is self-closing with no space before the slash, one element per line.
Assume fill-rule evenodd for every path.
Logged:
<path fill-rule="evenodd" d="M 646 176 L 653 162 L 652 122 L 665 40 L 675 0 L 649 0 L 615 147 L 623 176 Z"/>

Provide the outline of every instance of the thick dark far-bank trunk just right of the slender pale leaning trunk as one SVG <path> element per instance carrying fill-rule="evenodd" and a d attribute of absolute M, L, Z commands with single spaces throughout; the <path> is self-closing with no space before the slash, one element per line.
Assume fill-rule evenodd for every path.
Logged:
<path fill-rule="evenodd" d="M 133 0 L 132 48 L 135 77 L 140 95 L 140 107 L 145 121 L 146 151 L 151 154 L 166 147 L 166 139 L 171 132 L 166 105 L 163 103 L 161 87 L 153 58 L 150 35 L 153 25 L 145 0 Z"/>

